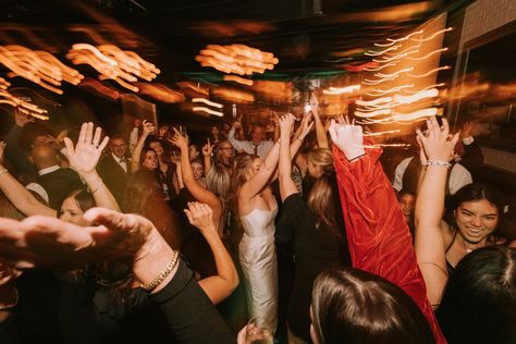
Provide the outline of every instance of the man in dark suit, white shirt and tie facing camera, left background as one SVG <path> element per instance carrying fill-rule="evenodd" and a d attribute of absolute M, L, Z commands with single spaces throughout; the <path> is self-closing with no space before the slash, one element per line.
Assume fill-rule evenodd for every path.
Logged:
<path fill-rule="evenodd" d="M 128 170 L 130 159 L 126 157 L 127 143 L 125 138 L 119 135 L 111 137 L 109 150 L 100 161 L 98 172 L 119 205 L 122 205 L 128 173 L 131 172 Z"/>

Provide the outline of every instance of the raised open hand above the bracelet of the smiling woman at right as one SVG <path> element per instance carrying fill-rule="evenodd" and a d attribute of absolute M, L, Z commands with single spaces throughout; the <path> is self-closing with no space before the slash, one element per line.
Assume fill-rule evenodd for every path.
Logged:
<path fill-rule="evenodd" d="M 417 136 L 425 148 L 428 160 L 450 161 L 453 159 L 453 149 L 458 140 L 459 133 L 450 135 L 450 125 L 446 119 L 443 119 L 443 126 L 439 126 L 435 116 L 427 120 L 427 134 L 423 135 L 419 128 L 416 130 Z"/>

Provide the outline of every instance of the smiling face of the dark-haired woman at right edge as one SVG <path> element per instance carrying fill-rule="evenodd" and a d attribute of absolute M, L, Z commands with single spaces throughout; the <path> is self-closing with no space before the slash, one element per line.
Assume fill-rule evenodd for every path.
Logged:
<path fill-rule="evenodd" d="M 464 201 L 455 210 L 455 220 L 460 235 L 476 244 L 496 229 L 499 210 L 487 199 Z"/>

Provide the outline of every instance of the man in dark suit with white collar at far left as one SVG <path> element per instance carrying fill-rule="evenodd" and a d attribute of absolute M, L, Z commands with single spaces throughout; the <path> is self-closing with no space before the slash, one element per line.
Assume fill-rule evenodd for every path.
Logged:
<path fill-rule="evenodd" d="M 62 169 L 59 165 L 59 151 L 48 145 L 35 146 L 30 149 L 30 160 L 38 170 L 35 183 L 27 185 L 28 189 L 45 191 L 41 195 L 48 199 L 49 207 L 56 210 L 61 208 L 63 200 L 74 191 L 84 187 L 78 174 L 72 169 Z M 39 185 L 39 186 L 38 186 Z"/>

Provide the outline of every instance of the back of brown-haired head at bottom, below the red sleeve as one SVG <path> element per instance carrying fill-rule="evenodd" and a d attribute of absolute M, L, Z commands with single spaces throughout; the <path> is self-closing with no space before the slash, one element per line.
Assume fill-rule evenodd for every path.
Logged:
<path fill-rule="evenodd" d="M 357 269 L 319 274 L 310 331 L 316 344 L 435 343 L 425 316 L 402 288 Z"/>

